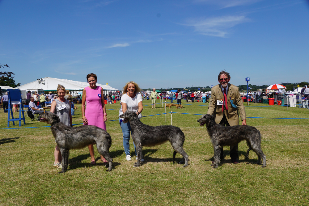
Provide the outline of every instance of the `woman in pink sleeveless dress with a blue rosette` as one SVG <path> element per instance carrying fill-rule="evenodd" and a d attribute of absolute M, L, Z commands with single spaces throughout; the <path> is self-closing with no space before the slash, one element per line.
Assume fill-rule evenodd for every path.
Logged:
<path fill-rule="evenodd" d="M 95 125 L 106 131 L 105 121 L 107 120 L 107 114 L 104 104 L 103 89 L 100 86 L 96 86 L 97 76 L 96 74 L 88 74 L 87 81 L 89 86 L 83 89 L 82 97 L 82 116 L 84 125 Z M 85 103 L 87 103 L 85 112 Z M 93 153 L 93 144 L 88 145 L 91 162 L 90 164 L 95 164 L 95 156 Z M 101 155 L 101 160 L 107 163 L 106 159 Z"/>

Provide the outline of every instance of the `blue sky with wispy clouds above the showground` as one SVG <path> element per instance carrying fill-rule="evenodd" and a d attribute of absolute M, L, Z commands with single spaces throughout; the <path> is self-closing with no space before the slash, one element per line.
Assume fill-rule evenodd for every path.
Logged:
<path fill-rule="evenodd" d="M 0 0 L 0 64 L 121 89 L 309 82 L 305 0 Z"/>

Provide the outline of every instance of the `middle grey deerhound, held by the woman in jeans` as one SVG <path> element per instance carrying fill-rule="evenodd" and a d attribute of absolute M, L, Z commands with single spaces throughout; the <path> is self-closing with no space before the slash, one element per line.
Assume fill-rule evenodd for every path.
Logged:
<path fill-rule="evenodd" d="M 139 119 L 137 114 L 134 111 L 125 111 L 124 114 L 120 115 L 121 118 L 124 118 L 123 123 L 130 122 L 130 127 L 132 130 L 132 139 L 136 146 L 136 153 L 138 160 L 134 163 L 134 167 L 138 167 L 142 158 L 142 149 L 143 146 L 152 147 L 155 145 L 161 145 L 166 141 L 170 141 L 173 149 L 173 162 L 175 161 L 176 153 L 182 155 L 181 164 L 184 163 L 184 166 L 188 166 L 188 154 L 184 151 L 184 132 L 180 128 L 166 125 L 166 126 L 157 126 L 152 127 L 146 124 L 143 124 Z"/>

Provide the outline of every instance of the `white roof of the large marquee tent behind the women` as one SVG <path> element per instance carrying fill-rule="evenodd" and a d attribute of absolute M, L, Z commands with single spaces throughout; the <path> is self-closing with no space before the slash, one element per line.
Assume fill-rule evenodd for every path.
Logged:
<path fill-rule="evenodd" d="M 45 85 L 39 84 L 39 81 L 36 80 L 28 84 L 18 86 L 16 88 L 20 90 L 44 89 L 46 91 L 56 91 L 58 84 L 61 84 L 67 90 L 82 91 L 86 86 L 89 86 L 88 82 L 78 82 L 78 81 L 73 81 L 73 80 L 68 80 L 68 79 L 58 79 L 58 78 L 51 78 L 51 77 L 45 77 L 43 79 L 45 79 Z M 96 85 L 102 87 L 103 90 L 118 90 L 108 85 L 102 85 L 98 83 Z"/>

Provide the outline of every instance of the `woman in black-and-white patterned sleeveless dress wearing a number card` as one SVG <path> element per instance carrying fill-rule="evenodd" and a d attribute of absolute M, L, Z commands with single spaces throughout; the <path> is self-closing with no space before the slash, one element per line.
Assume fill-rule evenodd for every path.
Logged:
<path fill-rule="evenodd" d="M 69 100 L 64 98 L 64 96 L 66 95 L 66 88 L 58 84 L 57 94 L 58 94 L 57 99 L 55 99 L 50 106 L 50 112 L 55 113 L 57 116 L 59 116 L 60 121 L 63 124 L 72 127 L 71 103 Z M 62 158 L 58 145 L 55 148 L 54 156 L 55 156 L 54 167 L 59 169 L 62 168 L 61 165 Z"/>

